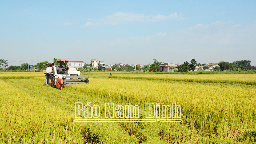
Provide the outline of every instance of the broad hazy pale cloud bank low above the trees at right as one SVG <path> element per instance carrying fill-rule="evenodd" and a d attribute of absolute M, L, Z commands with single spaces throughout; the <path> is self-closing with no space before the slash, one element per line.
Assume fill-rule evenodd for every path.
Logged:
<path fill-rule="evenodd" d="M 256 22 L 255 22 L 256 23 Z M 200 63 L 219 61 L 233 62 L 249 59 L 256 63 L 255 54 L 255 24 L 239 26 L 232 21 L 216 21 L 211 24 L 198 24 L 172 33 L 157 33 L 145 37 L 119 38 L 109 41 L 81 41 L 77 46 L 88 49 L 101 49 L 102 55 L 91 57 L 109 59 L 105 53 L 111 51 L 116 57 L 110 63 L 117 61 L 147 64 L 153 58 L 171 63 L 183 63 L 195 58 Z M 133 51 L 132 55 L 118 55 L 120 51 Z M 248 53 L 250 51 L 251 53 Z M 106 60 L 107 61 L 107 60 Z"/>

